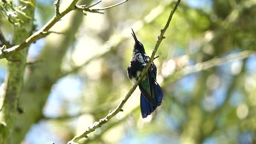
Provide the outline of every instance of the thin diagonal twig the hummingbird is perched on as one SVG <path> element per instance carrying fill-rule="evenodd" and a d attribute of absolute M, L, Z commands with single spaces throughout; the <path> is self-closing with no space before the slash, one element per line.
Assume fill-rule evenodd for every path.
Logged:
<path fill-rule="evenodd" d="M 166 29 L 168 28 L 170 21 L 172 20 L 172 16 L 175 12 L 175 10 L 177 9 L 178 5 L 180 4 L 180 0 L 178 0 L 174 6 L 174 9 L 171 11 L 170 16 L 168 18 L 168 21 L 166 22 L 166 25 L 164 27 L 163 30 L 161 30 L 161 34 L 160 34 L 160 39 L 157 41 L 156 46 L 152 52 L 151 58 L 148 62 L 148 64 L 144 67 L 144 70 L 142 71 L 142 73 L 140 74 L 140 77 L 138 78 L 138 81 L 132 86 L 132 88 L 130 89 L 130 91 L 126 94 L 125 98 L 122 100 L 122 102 L 120 102 L 120 104 L 116 107 L 115 110 L 113 110 L 112 112 L 110 112 L 105 118 L 100 119 L 98 122 L 94 122 L 94 124 L 92 124 L 83 134 L 79 135 L 79 136 L 75 136 L 71 141 L 68 142 L 68 144 L 74 144 L 76 143 L 78 140 L 80 140 L 81 138 L 85 138 L 88 137 L 87 134 L 93 132 L 96 128 L 99 128 L 100 126 L 102 126 L 103 124 L 107 123 L 113 116 L 115 116 L 118 112 L 120 112 L 120 110 L 122 110 L 122 107 L 124 106 L 124 104 L 126 103 L 126 101 L 128 100 L 128 98 L 131 96 L 131 94 L 134 92 L 134 90 L 136 89 L 136 87 L 138 86 L 138 84 L 140 84 L 142 78 L 144 77 L 144 75 L 146 74 L 146 71 L 148 70 L 148 68 L 150 67 L 151 63 L 154 60 L 154 56 L 156 54 L 156 51 L 162 41 L 164 32 L 166 31 Z"/>

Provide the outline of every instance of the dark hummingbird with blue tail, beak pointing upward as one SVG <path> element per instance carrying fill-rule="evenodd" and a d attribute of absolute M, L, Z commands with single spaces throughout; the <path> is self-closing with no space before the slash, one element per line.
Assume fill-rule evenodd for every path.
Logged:
<path fill-rule="evenodd" d="M 149 62 L 150 57 L 146 55 L 144 46 L 138 41 L 134 31 L 132 30 L 132 36 L 135 40 L 132 60 L 127 69 L 128 78 L 135 83 L 144 67 Z M 161 105 L 164 93 L 162 88 L 156 82 L 156 65 L 154 62 L 151 63 L 148 71 L 142 78 L 139 84 L 140 88 L 140 110 L 142 118 L 146 118 L 150 115 L 158 106 Z"/>

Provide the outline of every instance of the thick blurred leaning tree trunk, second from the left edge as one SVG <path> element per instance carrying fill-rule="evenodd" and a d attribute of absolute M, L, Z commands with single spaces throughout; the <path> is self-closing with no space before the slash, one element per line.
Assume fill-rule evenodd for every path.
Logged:
<path fill-rule="evenodd" d="M 92 0 L 80 0 L 80 4 L 90 4 Z M 68 18 L 64 22 L 64 19 Z M 51 87 L 59 79 L 62 59 L 66 51 L 74 41 L 74 36 L 78 31 L 84 15 L 82 12 L 72 12 L 70 17 L 63 18 L 58 24 L 58 32 L 64 35 L 52 34 L 46 37 L 46 46 L 42 50 L 38 60 L 42 62 L 28 67 L 28 78 L 22 88 L 19 105 L 25 112 L 19 114 L 12 134 L 12 144 L 20 144 L 31 125 L 42 118 L 42 109 Z M 64 27 L 61 29 L 60 27 Z M 52 29 L 54 31 L 54 28 Z"/>

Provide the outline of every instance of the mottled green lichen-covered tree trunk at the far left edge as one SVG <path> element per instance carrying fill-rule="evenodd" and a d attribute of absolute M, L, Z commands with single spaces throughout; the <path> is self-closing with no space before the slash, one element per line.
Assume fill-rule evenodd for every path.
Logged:
<path fill-rule="evenodd" d="M 35 4 L 35 0 L 31 0 Z M 20 25 L 14 26 L 14 35 L 12 44 L 20 44 L 33 30 L 34 7 L 30 4 L 25 4 L 18 1 L 18 5 L 26 5 L 22 10 L 26 16 L 18 13 Z M 28 18 L 29 17 L 29 18 Z M 14 127 L 14 122 L 18 114 L 17 104 L 22 88 L 23 74 L 26 65 L 26 56 L 28 48 L 13 54 L 8 59 L 13 60 L 8 62 L 8 71 L 4 83 L 0 89 L 0 97 L 2 98 L 0 106 L 0 142 L 1 144 L 9 144 L 11 133 Z"/>

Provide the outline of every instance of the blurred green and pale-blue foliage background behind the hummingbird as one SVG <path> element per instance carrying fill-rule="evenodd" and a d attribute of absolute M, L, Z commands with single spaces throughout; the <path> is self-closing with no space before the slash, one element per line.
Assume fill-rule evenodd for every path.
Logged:
<path fill-rule="evenodd" d="M 82 68 L 52 86 L 44 106 L 44 118 L 30 129 L 24 143 L 68 142 L 116 108 L 132 86 L 126 75 L 134 45 L 130 29 L 138 30 L 136 36 L 150 55 L 174 2 L 130 0 L 105 10 L 105 14 L 84 16 L 62 59 L 60 74 L 79 65 Z M 160 57 L 154 63 L 158 67 L 158 82 L 164 90 L 162 105 L 152 116 L 142 119 L 140 92 L 136 90 L 126 102 L 124 112 L 80 143 L 256 143 L 256 2 L 200 2 L 183 0 L 180 3 L 166 31 L 166 39 L 158 49 Z M 115 3 L 103 1 L 94 7 Z M 40 28 L 54 15 L 54 5 L 39 1 L 36 7 L 36 23 Z M 154 14 L 158 15 L 154 18 Z M 150 18 L 154 19 L 148 21 Z M 3 19 L 0 20 L 2 23 Z M 62 32 L 64 22 L 58 22 L 62 25 L 54 31 Z M 4 31 L 8 27 L 0 28 Z M 40 56 L 44 43 L 57 46 L 56 40 L 46 38 L 36 42 L 30 47 L 30 54 L 35 52 Z M 244 54 L 246 50 L 254 54 L 218 64 L 218 58 Z M 28 60 L 30 58 L 28 56 Z M 44 58 L 50 60 L 51 56 Z M 208 60 L 212 60 L 212 66 L 207 64 Z M 3 63 L 1 60 L 1 66 Z M 181 73 L 186 68 L 188 72 Z M 189 68 L 198 70 L 194 73 Z M 30 69 L 33 66 L 27 73 Z M 39 142 L 38 137 L 44 140 Z"/>

